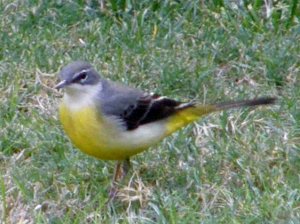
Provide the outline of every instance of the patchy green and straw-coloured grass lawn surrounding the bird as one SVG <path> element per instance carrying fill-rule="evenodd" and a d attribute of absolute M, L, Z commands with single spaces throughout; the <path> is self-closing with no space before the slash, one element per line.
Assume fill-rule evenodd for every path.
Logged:
<path fill-rule="evenodd" d="M 101 2 L 0 3 L 1 222 L 299 223 L 299 2 Z M 114 163 L 76 150 L 57 117 L 57 72 L 77 59 L 176 99 L 279 100 L 133 157 L 107 206 Z"/>

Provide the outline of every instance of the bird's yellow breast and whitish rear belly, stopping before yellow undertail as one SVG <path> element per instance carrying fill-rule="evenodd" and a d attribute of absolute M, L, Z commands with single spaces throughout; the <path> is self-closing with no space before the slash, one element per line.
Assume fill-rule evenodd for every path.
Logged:
<path fill-rule="evenodd" d="M 147 139 L 149 133 L 147 130 L 145 134 L 121 130 L 115 123 L 100 118 L 93 106 L 71 111 L 62 103 L 60 120 L 65 132 L 77 148 L 104 160 L 124 160 L 144 151 L 163 137 L 163 132 L 152 139 Z"/>

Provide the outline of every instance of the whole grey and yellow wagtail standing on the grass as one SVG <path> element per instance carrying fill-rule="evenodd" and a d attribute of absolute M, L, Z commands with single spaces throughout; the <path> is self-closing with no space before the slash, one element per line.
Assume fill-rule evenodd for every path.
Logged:
<path fill-rule="evenodd" d="M 98 159 L 117 160 L 110 196 L 129 158 L 203 115 L 238 107 L 273 104 L 275 98 L 201 105 L 145 93 L 101 77 L 88 62 L 65 66 L 55 88 L 65 89 L 60 120 L 71 141 Z"/>

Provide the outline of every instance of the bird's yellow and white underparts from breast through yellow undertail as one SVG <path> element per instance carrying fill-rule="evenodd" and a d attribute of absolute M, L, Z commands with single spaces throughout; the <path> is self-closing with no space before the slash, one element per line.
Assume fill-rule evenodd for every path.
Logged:
<path fill-rule="evenodd" d="M 62 103 L 60 120 L 73 144 L 84 153 L 104 160 L 124 160 L 215 110 L 213 106 L 187 108 L 163 121 L 127 131 L 99 116 L 93 106 L 71 111 Z"/>

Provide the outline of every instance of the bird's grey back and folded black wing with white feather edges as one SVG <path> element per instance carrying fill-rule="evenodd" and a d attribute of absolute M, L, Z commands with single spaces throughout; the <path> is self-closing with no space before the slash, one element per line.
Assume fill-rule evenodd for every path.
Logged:
<path fill-rule="evenodd" d="M 127 130 L 140 125 L 164 119 L 177 110 L 193 106 L 193 103 L 181 103 L 156 94 L 145 94 L 106 80 L 99 93 L 100 107 L 103 113 L 120 118 Z"/>

